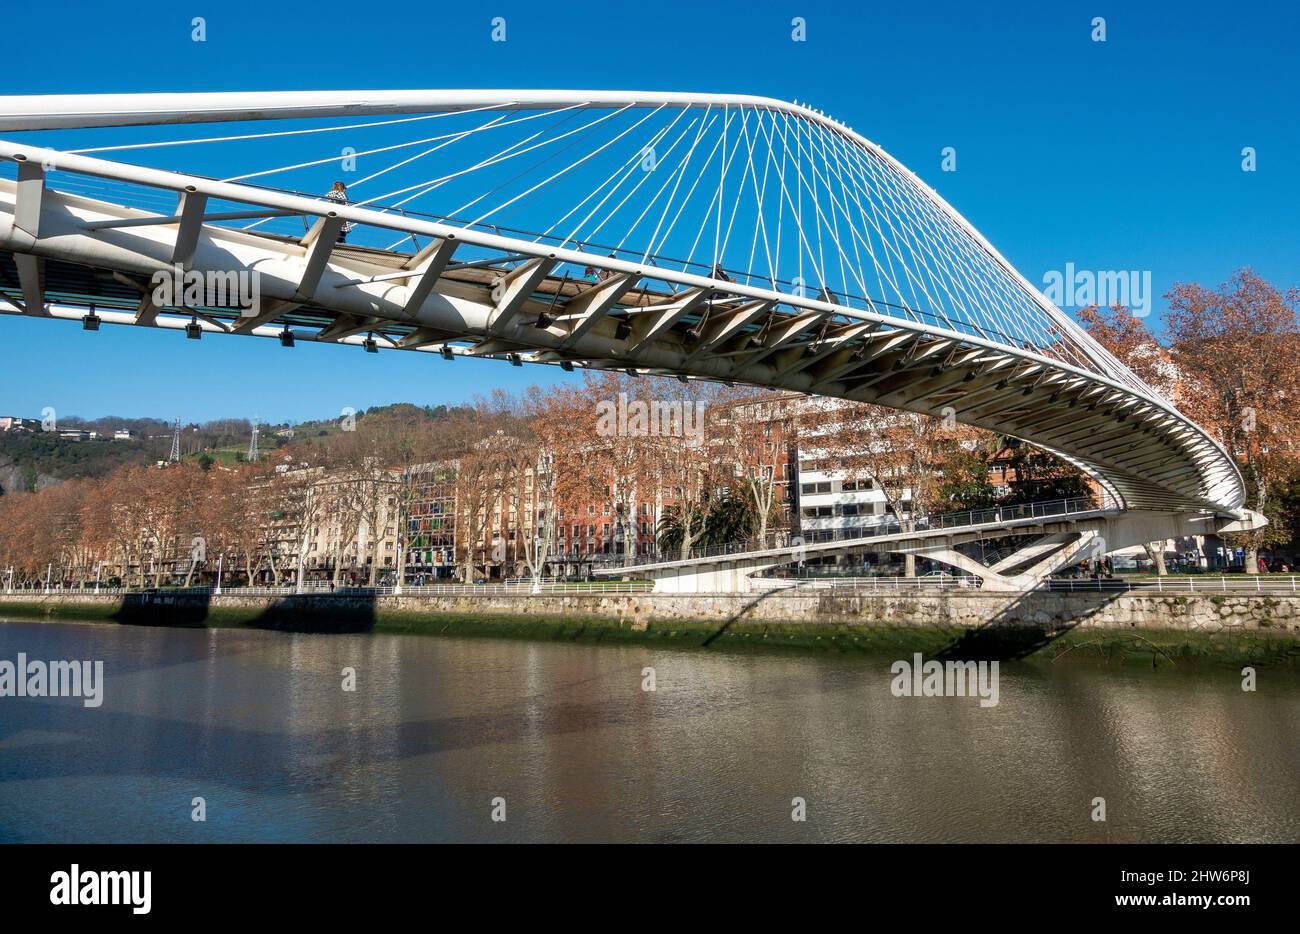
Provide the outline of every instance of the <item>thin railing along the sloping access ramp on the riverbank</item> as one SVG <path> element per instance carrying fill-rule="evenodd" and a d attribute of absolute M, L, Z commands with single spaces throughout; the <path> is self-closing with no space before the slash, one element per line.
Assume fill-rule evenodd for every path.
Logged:
<path fill-rule="evenodd" d="M 1054 516 L 1074 515 L 1078 513 L 1092 513 L 1102 509 L 1095 497 L 1071 497 L 1065 500 L 1046 500 L 1044 502 L 1024 502 L 1011 506 L 992 506 L 989 509 L 971 509 L 959 513 L 940 513 L 936 515 L 918 516 L 906 527 L 897 520 L 887 520 L 874 526 L 859 528 L 811 529 L 802 535 L 790 535 L 786 531 L 771 532 L 762 541 L 750 539 L 724 545 L 703 545 L 692 548 L 689 554 L 682 555 L 681 549 L 656 549 L 650 554 L 638 554 L 628 563 L 621 554 L 576 555 L 593 566 L 616 570 L 618 567 L 641 567 L 644 565 L 660 565 L 673 561 L 692 561 L 697 558 L 716 558 L 729 554 L 745 554 L 750 552 L 767 552 L 776 549 L 790 549 L 792 552 L 806 545 L 820 545 L 835 541 L 858 541 L 875 539 L 883 535 L 898 535 L 904 532 L 928 532 L 945 528 L 962 528 L 967 526 L 996 526 L 1001 523 L 1022 522 L 1026 519 L 1050 519 Z M 555 561 L 563 561 L 563 555 L 556 555 Z M 569 558 L 573 561 L 575 558 Z"/>

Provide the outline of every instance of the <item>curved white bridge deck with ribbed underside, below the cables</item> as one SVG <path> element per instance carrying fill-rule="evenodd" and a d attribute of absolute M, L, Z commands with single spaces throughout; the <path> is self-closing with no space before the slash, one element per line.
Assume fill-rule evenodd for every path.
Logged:
<path fill-rule="evenodd" d="M 156 215 L 56 190 L 34 159 L 0 180 L 0 311 L 107 324 L 361 343 L 512 363 L 618 368 L 796 390 L 957 420 L 1030 441 L 1095 476 L 1122 507 L 1223 510 L 1240 477 L 1205 433 L 1158 399 L 1040 353 L 832 302 L 720 284 L 528 241 L 378 216 L 410 251 L 339 242 L 328 203 L 136 169 L 178 190 Z M 57 153 L 56 153 L 57 155 Z M 74 168 L 100 172 L 96 160 Z M 79 161 L 78 161 L 79 160 Z M 60 164 L 62 168 L 62 163 Z M 133 180 L 134 181 L 134 180 Z M 209 204 L 222 202 L 222 212 Z M 228 207 L 238 208 L 226 211 Z M 300 238 L 222 226 L 296 213 Z M 599 281 L 575 269 L 595 263 Z M 254 308 L 157 307 L 151 277 L 256 272 Z M 562 274 L 564 271 L 564 274 Z M 283 338 L 282 338 L 283 340 Z"/>

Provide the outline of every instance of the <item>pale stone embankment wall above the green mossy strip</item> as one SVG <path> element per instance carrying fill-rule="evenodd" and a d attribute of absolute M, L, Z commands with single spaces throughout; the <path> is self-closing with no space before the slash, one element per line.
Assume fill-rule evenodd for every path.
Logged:
<path fill-rule="evenodd" d="M 633 631 L 668 623 L 888 627 L 1010 626 L 1056 630 L 1136 628 L 1214 634 L 1264 630 L 1300 636 L 1300 594 L 1149 594 L 1036 592 L 996 594 L 845 593 L 805 591 L 763 594 L 554 593 L 400 597 L 252 597 L 221 594 L 0 594 L 0 615 L 112 618 L 120 622 L 202 626 L 299 618 L 419 619 L 502 617 L 604 620 Z"/>

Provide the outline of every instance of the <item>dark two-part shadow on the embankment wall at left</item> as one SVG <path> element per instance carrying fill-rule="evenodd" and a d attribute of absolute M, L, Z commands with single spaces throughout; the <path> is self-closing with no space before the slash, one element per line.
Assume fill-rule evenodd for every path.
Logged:
<path fill-rule="evenodd" d="M 129 626 L 202 630 L 229 622 L 280 632 L 369 632 L 374 628 L 376 609 L 376 594 L 342 589 L 281 597 L 261 611 L 221 607 L 214 619 L 212 594 L 205 591 L 143 591 L 125 594 L 110 618 Z"/>

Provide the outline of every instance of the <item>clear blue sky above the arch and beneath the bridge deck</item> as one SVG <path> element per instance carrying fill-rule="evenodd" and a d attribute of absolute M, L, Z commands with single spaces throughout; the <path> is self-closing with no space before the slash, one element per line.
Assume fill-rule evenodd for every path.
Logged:
<path fill-rule="evenodd" d="M 200 9 L 202 8 L 202 9 Z M 1295 3 L 77 4 L 5 10 L 0 94 L 612 87 L 798 99 L 879 142 L 1030 281 L 1067 263 L 1300 285 Z M 190 40 L 190 18 L 208 40 Z M 373 14 L 373 16 L 372 16 Z M 503 16 L 508 42 L 490 42 Z M 790 21 L 807 42 L 790 42 Z M 1091 21 L 1106 18 L 1106 42 Z M 22 38 L 18 40 L 18 38 Z M 956 173 L 940 170 L 944 147 Z M 1258 170 L 1242 172 L 1242 148 Z M 1164 302 L 1157 298 L 1154 314 Z M 299 420 L 560 379 L 420 354 L 0 316 L 0 414 Z"/>

